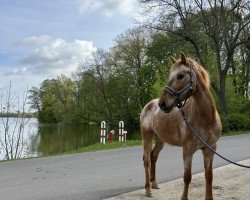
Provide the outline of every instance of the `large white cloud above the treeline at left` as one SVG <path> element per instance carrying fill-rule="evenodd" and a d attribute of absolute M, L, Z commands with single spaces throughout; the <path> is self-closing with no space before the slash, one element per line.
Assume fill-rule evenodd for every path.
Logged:
<path fill-rule="evenodd" d="M 24 56 L 21 67 L 4 75 L 58 75 L 75 71 L 79 62 L 84 61 L 96 48 L 92 41 L 75 40 L 67 42 L 50 36 L 32 36 L 18 43 L 19 46 L 32 46 L 31 53 Z"/>

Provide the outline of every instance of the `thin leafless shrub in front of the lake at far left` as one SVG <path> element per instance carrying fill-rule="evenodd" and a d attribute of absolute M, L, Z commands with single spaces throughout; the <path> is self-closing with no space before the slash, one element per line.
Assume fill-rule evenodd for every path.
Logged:
<path fill-rule="evenodd" d="M 20 97 L 12 91 L 11 83 L 6 92 L 1 94 L 0 114 L 0 154 L 4 159 L 20 158 L 26 146 L 24 128 L 30 118 L 26 118 L 27 91 Z"/>

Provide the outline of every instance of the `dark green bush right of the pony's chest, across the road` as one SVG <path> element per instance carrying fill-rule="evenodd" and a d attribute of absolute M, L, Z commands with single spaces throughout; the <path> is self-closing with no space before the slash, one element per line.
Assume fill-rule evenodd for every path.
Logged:
<path fill-rule="evenodd" d="M 250 129 L 250 116 L 247 114 L 235 113 L 226 118 L 221 119 L 223 124 L 223 132 L 229 130 L 249 130 Z"/>

